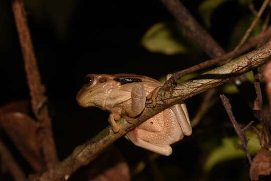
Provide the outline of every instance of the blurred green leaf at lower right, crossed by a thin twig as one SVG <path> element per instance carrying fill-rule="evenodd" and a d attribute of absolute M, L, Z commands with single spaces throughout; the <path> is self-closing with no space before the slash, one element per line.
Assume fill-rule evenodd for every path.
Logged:
<path fill-rule="evenodd" d="M 246 131 L 245 134 L 248 139 L 247 149 L 249 153 L 253 155 L 260 149 L 260 143 L 254 133 Z M 217 163 L 245 157 L 245 153 L 237 148 L 236 140 L 238 140 L 237 136 L 222 138 L 222 144 L 210 152 L 204 165 L 204 171 L 210 172 Z M 238 141 L 238 143 L 240 143 L 240 141 Z"/>

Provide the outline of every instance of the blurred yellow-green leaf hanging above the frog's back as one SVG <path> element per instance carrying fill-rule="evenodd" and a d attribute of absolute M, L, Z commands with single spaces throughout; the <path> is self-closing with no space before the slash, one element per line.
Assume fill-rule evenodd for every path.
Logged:
<path fill-rule="evenodd" d="M 157 23 L 147 30 L 141 43 L 151 52 L 183 54 L 188 52 L 188 43 L 183 35 L 184 29 L 175 23 Z"/>

